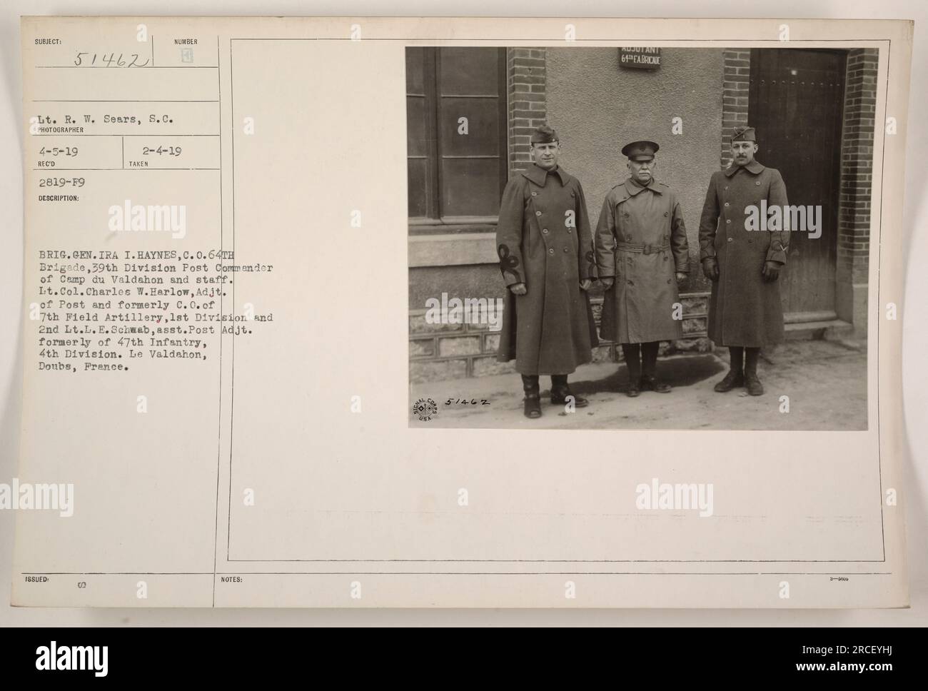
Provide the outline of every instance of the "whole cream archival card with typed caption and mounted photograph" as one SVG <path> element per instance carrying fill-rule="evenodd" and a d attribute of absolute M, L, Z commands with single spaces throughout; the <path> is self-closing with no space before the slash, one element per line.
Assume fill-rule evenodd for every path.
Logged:
<path fill-rule="evenodd" d="M 13 604 L 907 607 L 911 38 L 23 18 Z"/>

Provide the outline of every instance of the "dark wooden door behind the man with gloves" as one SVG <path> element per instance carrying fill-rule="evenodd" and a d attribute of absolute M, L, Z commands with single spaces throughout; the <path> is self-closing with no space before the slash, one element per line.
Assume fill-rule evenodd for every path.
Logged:
<path fill-rule="evenodd" d="M 787 322 L 835 318 L 844 111 L 843 50 L 754 48 L 748 122 L 757 160 L 776 168 L 790 205 L 821 207 L 821 237 L 790 233 L 780 293 Z"/>

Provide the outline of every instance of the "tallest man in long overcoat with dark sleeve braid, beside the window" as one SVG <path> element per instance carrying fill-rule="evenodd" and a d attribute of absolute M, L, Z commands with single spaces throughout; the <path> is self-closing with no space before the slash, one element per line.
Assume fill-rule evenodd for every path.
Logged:
<path fill-rule="evenodd" d="M 516 361 L 524 413 L 541 416 L 539 375 L 551 376 L 551 403 L 582 408 L 567 376 L 592 359 L 598 344 L 586 290 L 595 278 L 593 243 L 580 182 L 558 158 L 558 135 L 541 125 L 531 138 L 535 163 L 506 185 L 496 251 L 506 306 L 496 360 Z"/>

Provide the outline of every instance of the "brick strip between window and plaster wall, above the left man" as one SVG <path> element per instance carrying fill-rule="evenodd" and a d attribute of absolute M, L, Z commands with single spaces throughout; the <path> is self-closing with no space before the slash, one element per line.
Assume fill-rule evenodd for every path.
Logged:
<path fill-rule="evenodd" d="M 532 162 L 529 138 L 548 117 L 545 48 L 507 48 L 509 93 L 509 176 Z"/>

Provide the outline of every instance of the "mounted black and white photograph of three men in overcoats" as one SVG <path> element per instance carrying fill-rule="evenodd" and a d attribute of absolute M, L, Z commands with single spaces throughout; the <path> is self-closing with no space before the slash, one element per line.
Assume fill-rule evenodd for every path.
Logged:
<path fill-rule="evenodd" d="M 877 57 L 407 47 L 410 426 L 868 429 Z"/>

